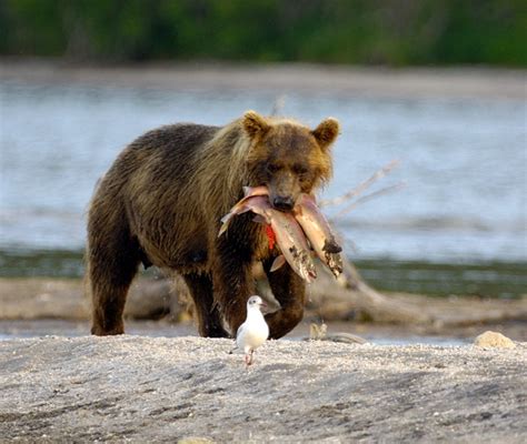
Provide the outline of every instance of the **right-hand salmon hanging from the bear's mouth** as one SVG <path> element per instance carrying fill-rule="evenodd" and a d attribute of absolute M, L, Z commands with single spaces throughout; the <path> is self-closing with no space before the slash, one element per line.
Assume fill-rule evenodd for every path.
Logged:
<path fill-rule="evenodd" d="M 317 206 L 315 198 L 300 194 L 294 213 L 318 258 L 329 268 L 335 278 L 338 278 L 342 273 L 342 258 L 339 254 L 342 249 L 335 240 L 329 223 Z"/>

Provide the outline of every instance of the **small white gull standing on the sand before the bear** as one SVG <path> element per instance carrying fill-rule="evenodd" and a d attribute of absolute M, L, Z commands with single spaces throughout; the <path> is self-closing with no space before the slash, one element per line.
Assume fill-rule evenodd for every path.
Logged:
<path fill-rule="evenodd" d="M 266 306 L 260 296 L 247 301 L 247 319 L 236 332 L 236 345 L 246 354 L 247 366 L 252 364 L 252 353 L 269 337 L 269 325 L 260 311 Z"/>

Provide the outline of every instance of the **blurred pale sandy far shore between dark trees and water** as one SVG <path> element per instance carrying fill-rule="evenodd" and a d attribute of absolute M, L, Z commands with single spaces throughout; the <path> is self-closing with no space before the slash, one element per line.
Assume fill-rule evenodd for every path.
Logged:
<path fill-rule="evenodd" d="M 1 81 L 105 83 L 170 90 L 312 90 L 347 95 L 406 98 L 526 98 L 527 71 L 479 67 L 371 68 L 308 63 L 173 62 L 71 64 L 59 59 L 0 59 Z"/>

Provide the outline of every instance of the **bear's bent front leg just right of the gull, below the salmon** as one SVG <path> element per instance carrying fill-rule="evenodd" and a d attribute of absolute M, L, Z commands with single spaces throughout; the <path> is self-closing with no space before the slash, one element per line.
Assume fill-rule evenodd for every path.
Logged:
<path fill-rule="evenodd" d="M 289 333 L 302 320 L 306 284 L 287 263 L 271 272 L 270 268 L 274 259 L 270 258 L 264 261 L 264 270 L 272 294 L 281 305 L 277 312 L 266 315 L 269 325 L 269 337 L 277 340 Z"/>

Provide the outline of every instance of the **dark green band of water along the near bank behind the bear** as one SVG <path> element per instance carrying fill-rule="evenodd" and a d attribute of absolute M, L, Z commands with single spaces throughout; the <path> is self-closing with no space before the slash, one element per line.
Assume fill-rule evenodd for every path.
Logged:
<path fill-rule="evenodd" d="M 82 251 L 0 249 L 0 278 L 81 278 L 82 256 Z M 518 299 L 527 289 L 525 262 L 454 264 L 377 259 L 354 263 L 369 284 L 385 291 Z M 143 273 L 156 276 L 159 270 L 150 268 Z"/>

